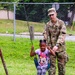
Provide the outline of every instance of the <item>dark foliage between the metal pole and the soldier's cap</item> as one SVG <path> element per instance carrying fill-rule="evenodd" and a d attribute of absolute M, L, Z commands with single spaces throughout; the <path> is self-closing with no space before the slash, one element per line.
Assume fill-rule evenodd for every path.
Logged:
<path fill-rule="evenodd" d="M 47 10 L 49 7 L 51 7 L 51 5 L 18 4 L 16 10 L 16 19 L 29 20 L 34 22 L 42 22 L 42 21 L 47 22 L 48 21 Z"/>

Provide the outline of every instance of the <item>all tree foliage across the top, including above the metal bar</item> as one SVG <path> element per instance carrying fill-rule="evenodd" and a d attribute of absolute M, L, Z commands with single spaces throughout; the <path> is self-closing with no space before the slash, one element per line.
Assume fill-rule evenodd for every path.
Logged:
<path fill-rule="evenodd" d="M 4 0 L 3 0 L 4 1 Z M 30 3 L 30 2 L 67 2 L 68 0 L 5 0 L 5 2 L 18 2 L 18 3 Z M 69 2 L 71 2 L 69 0 Z M 73 0 L 72 0 L 73 2 Z M 52 5 L 39 5 L 39 4 L 17 4 L 16 5 L 16 19 L 18 20 L 29 20 L 29 21 L 35 21 L 35 22 L 47 22 L 48 21 L 48 15 L 47 10 L 52 7 Z M 6 9 L 13 11 L 13 4 L 0 4 L 0 9 Z M 63 9 L 64 8 L 64 9 Z M 68 10 L 72 11 L 73 7 L 70 4 L 62 5 L 60 4 L 60 8 L 58 10 L 58 17 L 64 21 L 70 21 L 70 18 L 68 18 Z M 26 14 L 25 14 L 26 12 Z M 64 13 L 65 12 L 65 13 Z M 36 16 L 37 15 L 37 16 Z M 27 19 L 27 17 L 28 19 Z M 72 21 L 71 21 L 72 23 Z"/>

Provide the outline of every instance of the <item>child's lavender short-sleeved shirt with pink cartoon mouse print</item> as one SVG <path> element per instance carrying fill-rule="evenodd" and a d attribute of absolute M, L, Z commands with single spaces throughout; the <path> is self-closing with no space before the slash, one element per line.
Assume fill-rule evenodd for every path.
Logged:
<path fill-rule="evenodd" d="M 35 53 L 38 55 L 38 63 L 41 67 L 47 66 L 49 60 L 50 51 L 46 48 L 44 52 L 41 52 L 40 49 L 35 50 Z"/>

